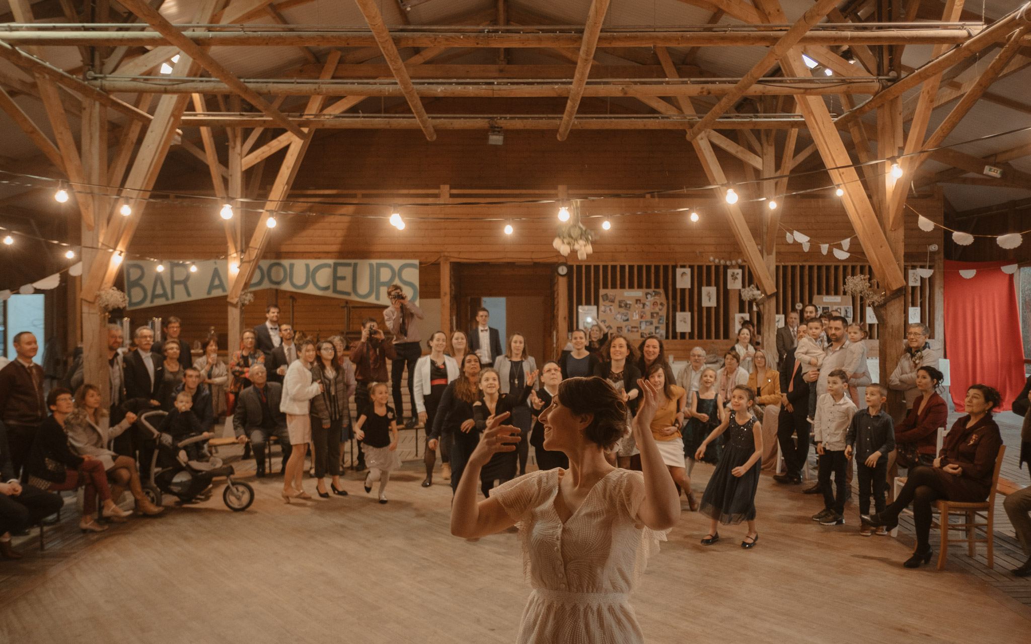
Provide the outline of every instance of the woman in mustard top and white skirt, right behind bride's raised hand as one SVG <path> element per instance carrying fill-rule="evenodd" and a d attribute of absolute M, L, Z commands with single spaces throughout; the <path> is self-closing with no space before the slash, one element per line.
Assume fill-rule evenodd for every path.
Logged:
<path fill-rule="evenodd" d="M 662 462 L 669 468 L 673 482 L 684 488 L 688 505 L 694 512 L 698 510 L 698 500 L 691 493 L 691 478 L 684 469 L 684 438 L 680 427 L 687 413 L 688 393 L 683 386 L 673 384 L 673 370 L 665 361 L 655 362 L 644 376 L 658 389 L 659 409 L 652 419 L 652 437 L 659 446 Z"/>

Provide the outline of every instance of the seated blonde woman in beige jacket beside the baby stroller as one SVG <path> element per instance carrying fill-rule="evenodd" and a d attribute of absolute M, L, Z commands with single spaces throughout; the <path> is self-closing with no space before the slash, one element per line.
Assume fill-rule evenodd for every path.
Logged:
<path fill-rule="evenodd" d="M 72 449 L 79 455 L 89 454 L 103 464 L 104 471 L 114 480 L 111 498 L 120 498 L 128 485 L 136 499 L 136 511 L 153 516 L 160 514 L 164 508 L 151 503 L 143 494 L 136 462 L 107 448 L 108 441 L 129 429 L 135 420 L 136 414 L 129 413 L 122 422 L 110 427 L 107 410 L 100 408 L 100 391 L 92 384 L 84 384 L 75 392 L 75 405 L 65 418 L 65 432 Z"/>

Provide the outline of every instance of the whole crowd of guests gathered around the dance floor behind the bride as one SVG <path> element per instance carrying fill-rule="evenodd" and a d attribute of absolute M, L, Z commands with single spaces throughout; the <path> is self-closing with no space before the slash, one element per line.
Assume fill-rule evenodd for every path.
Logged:
<path fill-rule="evenodd" d="M 44 397 L 42 370 L 32 361 L 36 338 L 15 335 L 18 355 L 0 370 L 0 473 L 6 481 L 0 482 L 0 554 L 18 556 L 10 534 L 60 508 L 60 497 L 47 492 L 84 487 L 84 531 L 101 532 L 109 522 L 127 520 L 118 506 L 127 489 L 139 514 L 159 514 L 162 508 L 148 501 L 141 482 L 147 479 L 155 445 L 136 420 L 147 411 L 167 412 L 162 431 L 176 437 L 210 437 L 221 418 L 231 417 L 244 457 L 253 455 L 260 478 L 272 474 L 265 469 L 274 437 L 282 448 L 279 474 L 287 503 L 311 499 L 302 485 L 308 453 L 315 493 L 346 496 L 340 475 L 343 445 L 352 439 L 359 445 L 356 469 L 368 470 L 366 492 L 378 484 L 378 501 L 387 503 L 387 483 L 401 466 L 398 431 L 417 425 L 426 428 L 423 486 L 433 484 L 439 452 L 441 476 L 457 490 L 485 431 L 503 415 L 520 440 L 510 451 L 496 451 L 475 468 L 478 487 L 490 497 L 497 485 L 526 473 L 530 445 L 539 469 L 569 466 L 568 454 L 550 447 L 554 441 L 542 417 L 557 401 L 560 385 L 571 378 L 604 381 L 623 403 L 626 427 L 638 413 L 641 383 L 654 388 L 648 427 L 656 453 L 689 508 L 710 518 L 702 539 L 706 545 L 719 541 L 720 524 L 741 521 L 747 522 L 741 546 L 756 545 L 760 469 L 777 467 L 778 447 L 785 471 L 773 478 L 793 485 L 801 483 L 810 444 L 816 444 L 818 477 L 804 492 L 822 497 L 824 507 L 812 517 L 822 524 L 844 523 L 853 474 L 859 477 L 859 530 L 864 536 L 887 534 L 899 512 L 912 505 L 917 547 L 906 562 L 910 567 L 930 558 L 933 502 L 980 501 L 991 485 L 1001 445 L 992 420 L 999 395 L 987 385 L 971 386 L 966 415 L 953 426 L 939 451 L 937 431 L 949 412 L 938 393 L 943 377 L 938 357 L 924 325 L 908 328 L 906 348 L 887 385 L 871 381 L 862 327 L 820 315 L 813 305 L 802 309 L 801 318 L 796 312 L 786 316 L 776 332 L 775 357 L 761 348 L 755 327 L 746 321 L 723 355 L 694 347 L 674 375 L 661 338 L 635 344 L 603 325 L 573 331 L 558 361 L 538 366 L 522 334 L 510 334 L 502 344 L 486 308 L 477 311 L 468 333 L 438 331 L 424 343 L 418 324 L 423 311 L 397 284 L 388 296 L 391 305 L 383 323 L 389 338 L 379 320 L 366 318 L 351 346 L 341 336 L 295 342 L 293 327 L 280 323 L 278 307 L 270 305 L 266 320 L 243 332 L 228 362 L 220 357 L 214 336 L 201 343 L 201 355 L 192 360 L 176 317 L 167 318 L 162 342 L 155 342 L 149 327 L 136 329 L 133 348 L 125 353 L 122 330 L 111 326 L 110 407 L 103 409 L 98 387 L 85 382 L 80 359 L 69 368 L 66 386 Z M 884 409 L 889 389 L 902 392 L 906 402 L 906 414 L 898 421 Z M 1018 403 L 1015 411 L 1027 410 L 1026 400 Z M 605 450 L 605 457 L 613 466 L 640 470 L 637 443 L 627 431 Z M 1024 452 L 1022 462 L 1031 459 L 1027 445 Z M 191 457 L 205 456 L 199 443 Z M 700 501 L 691 484 L 699 461 L 717 466 Z M 889 481 L 899 468 L 908 470 L 907 482 L 889 504 Z M 1022 493 L 1011 495 L 1006 508 L 1031 555 L 1031 494 Z M 1028 574 L 1029 565 L 1017 573 Z"/>

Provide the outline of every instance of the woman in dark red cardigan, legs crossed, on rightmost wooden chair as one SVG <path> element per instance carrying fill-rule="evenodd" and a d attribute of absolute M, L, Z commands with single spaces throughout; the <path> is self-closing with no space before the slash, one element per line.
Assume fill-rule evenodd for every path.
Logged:
<path fill-rule="evenodd" d="M 999 426 L 992 419 L 992 410 L 1002 404 L 999 393 L 987 384 L 973 384 L 967 389 L 966 411 L 945 436 L 941 453 L 932 467 L 919 466 L 895 502 L 884 512 L 864 516 L 870 526 L 898 526 L 899 513 L 912 503 L 917 524 L 917 550 L 906 560 L 906 568 L 919 568 L 931 561 L 931 505 L 938 499 L 977 503 L 988 498 L 992 489 L 992 474 L 1002 446 Z M 916 407 L 916 404 L 913 404 Z"/>

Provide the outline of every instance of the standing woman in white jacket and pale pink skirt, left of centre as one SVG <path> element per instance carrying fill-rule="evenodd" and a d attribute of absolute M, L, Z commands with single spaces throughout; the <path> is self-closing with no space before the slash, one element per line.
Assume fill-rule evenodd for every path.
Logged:
<path fill-rule="evenodd" d="M 322 382 L 311 381 L 311 363 L 315 360 L 315 345 L 305 340 L 297 351 L 297 360 L 287 369 L 282 379 L 282 398 L 279 411 L 287 414 L 287 432 L 290 434 L 290 460 L 282 475 L 282 500 L 310 499 L 301 486 L 304 475 L 304 454 L 311 442 L 311 416 L 309 401 L 322 394 Z"/>

